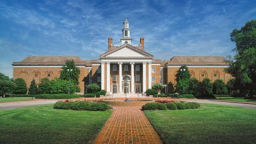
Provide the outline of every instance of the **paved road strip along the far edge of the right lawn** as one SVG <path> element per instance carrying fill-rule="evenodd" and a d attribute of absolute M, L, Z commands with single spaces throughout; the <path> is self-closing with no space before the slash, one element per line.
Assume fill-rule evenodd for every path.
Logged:
<path fill-rule="evenodd" d="M 212 100 L 185 100 L 188 102 L 199 102 L 199 103 L 210 103 L 210 104 L 219 104 L 219 105 L 228 105 L 242 108 L 256 108 L 256 105 L 246 104 L 246 103 L 234 103 L 234 102 L 222 102 L 222 101 L 212 101 Z"/>

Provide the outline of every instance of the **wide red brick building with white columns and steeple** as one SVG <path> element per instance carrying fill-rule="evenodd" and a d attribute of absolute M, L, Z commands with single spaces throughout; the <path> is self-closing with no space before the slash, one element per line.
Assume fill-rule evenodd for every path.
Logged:
<path fill-rule="evenodd" d="M 212 82 L 231 78 L 223 70 L 228 67 L 221 56 L 174 56 L 170 60 L 155 60 L 146 52 L 144 38 L 140 44 L 132 44 L 129 22 L 125 19 L 121 44 L 113 44 L 108 38 L 108 49 L 97 60 L 82 60 L 77 56 L 28 56 L 13 62 L 13 78 L 25 79 L 27 86 L 35 79 L 60 76 L 61 67 L 67 59 L 74 59 L 81 70 L 79 87 L 86 93 L 90 83 L 98 83 L 107 93 L 143 93 L 154 83 L 175 84 L 175 74 L 180 66 L 188 67 L 191 77 L 199 81 L 208 77 Z"/>

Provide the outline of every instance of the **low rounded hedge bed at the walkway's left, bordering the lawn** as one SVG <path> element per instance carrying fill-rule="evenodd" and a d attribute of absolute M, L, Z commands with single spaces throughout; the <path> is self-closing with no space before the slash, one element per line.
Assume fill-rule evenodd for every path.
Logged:
<path fill-rule="evenodd" d="M 92 111 L 105 111 L 111 107 L 104 102 L 64 102 L 58 101 L 54 104 L 55 109 L 73 109 L 73 110 L 92 110 Z"/>

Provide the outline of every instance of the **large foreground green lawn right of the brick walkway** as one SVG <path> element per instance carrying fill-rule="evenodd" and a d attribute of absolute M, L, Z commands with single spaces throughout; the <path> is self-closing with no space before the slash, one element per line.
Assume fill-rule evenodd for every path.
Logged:
<path fill-rule="evenodd" d="M 201 104 L 198 109 L 144 113 L 165 143 L 256 141 L 256 109 Z"/>

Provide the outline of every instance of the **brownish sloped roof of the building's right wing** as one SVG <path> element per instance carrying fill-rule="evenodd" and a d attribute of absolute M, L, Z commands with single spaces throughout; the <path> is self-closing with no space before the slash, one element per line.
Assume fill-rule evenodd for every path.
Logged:
<path fill-rule="evenodd" d="M 226 58 L 222 56 L 174 56 L 168 64 L 220 64 L 226 65 Z"/>

